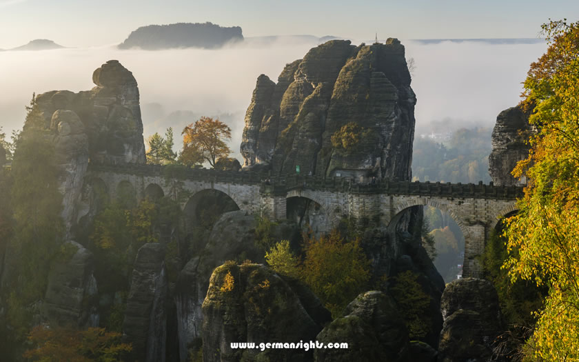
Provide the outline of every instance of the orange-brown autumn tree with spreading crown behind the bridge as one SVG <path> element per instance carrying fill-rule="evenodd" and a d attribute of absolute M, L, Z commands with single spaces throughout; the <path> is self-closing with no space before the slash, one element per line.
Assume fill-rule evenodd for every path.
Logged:
<path fill-rule="evenodd" d="M 231 128 L 219 119 L 201 117 L 183 129 L 183 151 L 179 159 L 186 165 L 208 162 L 215 167 L 217 159 L 231 154 L 225 141 L 231 139 Z"/>

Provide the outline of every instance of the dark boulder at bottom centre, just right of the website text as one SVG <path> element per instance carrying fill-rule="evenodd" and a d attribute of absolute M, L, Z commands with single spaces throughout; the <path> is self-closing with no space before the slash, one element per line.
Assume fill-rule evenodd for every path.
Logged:
<path fill-rule="evenodd" d="M 408 332 L 389 296 L 378 291 L 365 292 L 349 303 L 344 314 L 329 323 L 316 339 L 323 343 L 347 341 L 347 350 L 316 349 L 316 362 L 400 359 L 400 352 L 408 343 Z"/>

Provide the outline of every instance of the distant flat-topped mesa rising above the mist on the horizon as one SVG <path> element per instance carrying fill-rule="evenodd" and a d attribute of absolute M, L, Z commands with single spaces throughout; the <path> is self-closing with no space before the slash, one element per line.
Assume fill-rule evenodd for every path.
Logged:
<path fill-rule="evenodd" d="M 236 41 L 243 41 L 241 28 L 238 26 L 227 28 L 212 23 L 176 23 L 141 26 L 119 44 L 119 49 L 214 49 Z"/>

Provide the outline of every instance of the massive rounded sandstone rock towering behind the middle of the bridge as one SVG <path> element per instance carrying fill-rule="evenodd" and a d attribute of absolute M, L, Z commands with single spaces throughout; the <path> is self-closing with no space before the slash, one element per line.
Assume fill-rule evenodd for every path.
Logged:
<path fill-rule="evenodd" d="M 333 40 L 258 77 L 241 143 L 244 170 L 410 179 L 416 96 L 398 39 Z"/>

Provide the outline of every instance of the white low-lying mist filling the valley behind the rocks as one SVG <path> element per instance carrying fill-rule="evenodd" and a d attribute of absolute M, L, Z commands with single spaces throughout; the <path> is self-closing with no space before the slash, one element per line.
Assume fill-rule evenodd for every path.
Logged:
<path fill-rule="evenodd" d="M 516 105 L 529 64 L 545 43 L 493 45 L 480 42 L 423 44 L 403 41 L 414 58 L 416 134 L 494 124 L 501 110 Z M 21 128 L 32 92 L 89 90 L 92 72 L 119 60 L 139 83 L 145 138 L 172 126 L 176 148 L 181 130 L 202 115 L 220 117 L 233 130 L 238 149 L 245 110 L 256 78 L 277 81 L 286 63 L 301 59 L 312 41 L 248 42 L 220 50 L 87 49 L 0 52 L 0 125 Z M 438 121 L 437 123 L 432 123 Z"/>

